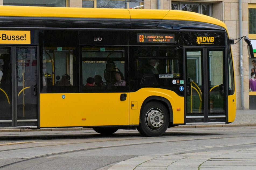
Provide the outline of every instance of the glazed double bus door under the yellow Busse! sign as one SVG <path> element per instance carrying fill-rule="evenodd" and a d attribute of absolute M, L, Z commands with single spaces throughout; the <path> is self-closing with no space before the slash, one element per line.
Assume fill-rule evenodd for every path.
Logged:
<path fill-rule="evenodd" d="M 37 127 L 37 51 L 0 47 L 0 127 Z"/>

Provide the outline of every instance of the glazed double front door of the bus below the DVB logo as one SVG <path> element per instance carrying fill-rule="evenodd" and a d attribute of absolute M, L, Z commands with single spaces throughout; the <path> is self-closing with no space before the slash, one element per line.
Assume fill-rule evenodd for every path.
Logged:
<path fill-rule="evenodd" d="M 226 122 L 225 49 L 185 49 L 186 124 Z"/>

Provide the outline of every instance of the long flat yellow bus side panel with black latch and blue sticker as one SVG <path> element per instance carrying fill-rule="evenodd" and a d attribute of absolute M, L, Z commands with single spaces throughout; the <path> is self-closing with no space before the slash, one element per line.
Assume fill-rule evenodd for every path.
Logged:
<path fill-rule="evenodd" d="M 129 125 L 129 93 L 40 94 L 40 127 Z"/>

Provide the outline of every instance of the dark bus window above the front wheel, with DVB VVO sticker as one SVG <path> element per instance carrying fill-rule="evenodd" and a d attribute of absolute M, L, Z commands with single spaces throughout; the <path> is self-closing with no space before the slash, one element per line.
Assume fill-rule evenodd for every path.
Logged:
<path fill-rule="evenodd" d="M 130 90 L 157 87 L 174 90 L 183 96 L 178 88 L 184 83 L 182 50 L 164 46 L 139 48 L 130 50 L 130 68 L 134 67 L 130 69 Z"/>

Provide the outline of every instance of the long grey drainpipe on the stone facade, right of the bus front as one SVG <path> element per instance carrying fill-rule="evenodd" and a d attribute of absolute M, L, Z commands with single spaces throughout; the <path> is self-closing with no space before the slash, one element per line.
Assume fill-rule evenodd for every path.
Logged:
<path fill-rule="evenodd" d="M 242 0 L 239 0 L 239 37 L 242 37 Z M 239 41 L 241 109 L 244 110 L 244 68 L 243 68 L 243 41 Z"/>

